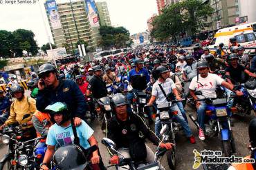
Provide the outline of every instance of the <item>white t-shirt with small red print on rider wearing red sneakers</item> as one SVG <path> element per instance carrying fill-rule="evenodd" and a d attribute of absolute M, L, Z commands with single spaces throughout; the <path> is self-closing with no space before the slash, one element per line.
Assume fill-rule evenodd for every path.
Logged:
<path fill-rule="evenodd" d="M 197 81 L 197 76 L 192 78 L 189 88 L 196 92 L 202 92 L 203 96 L 206 98 L 216 98 L 216 87 L 217 85 L 221 85 L 223 81 L 224 80 L 220 76 L 208 73 L 206 78 L 202 78 L 201 75 L 199 75 L 199 81 Z M 203 98 L 203 96 L 198 97 Z"/>

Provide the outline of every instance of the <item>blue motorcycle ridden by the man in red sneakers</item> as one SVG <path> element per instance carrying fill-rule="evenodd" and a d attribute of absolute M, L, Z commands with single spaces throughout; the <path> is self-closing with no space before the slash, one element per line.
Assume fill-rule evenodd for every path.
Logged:
<path fill-rule="evenodd" d="M 230 125 L 232 113 L 226 106 L 227 99 L 203 98 L 199 99 L 199 101 L 205 101 L 207 105 L 205 110 L 205 136 L 208 136 L 208 138 L 219 136 L 223 155 L 226 157 L 232 156 L 236 152 L 236 148 Z M 189 114 L 189 117 L 199 129 L 200 126 L 196 118 L 192 114 Z"/>

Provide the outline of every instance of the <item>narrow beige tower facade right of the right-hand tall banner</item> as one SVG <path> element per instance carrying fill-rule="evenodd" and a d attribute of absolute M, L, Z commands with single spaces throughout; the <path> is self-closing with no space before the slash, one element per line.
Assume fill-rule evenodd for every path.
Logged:
<path fill-rule="evenodd" d="M 107 8 L 107 2 L 96 2 L 96 6 L 99 12 L 100 25 L 101 26 L 111 26 L 111 21 L 109 17 L 109 9 Z"/>

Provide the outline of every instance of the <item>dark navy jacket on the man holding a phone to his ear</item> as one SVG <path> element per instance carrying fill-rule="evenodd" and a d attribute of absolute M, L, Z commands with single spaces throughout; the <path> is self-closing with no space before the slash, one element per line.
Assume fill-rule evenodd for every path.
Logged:
<path fill-rule="evenodd" d="M 60 81 L 56 89 L 42 89 L 37 95 L 37 109 L 44 109 L 53 103 L 66 103 L 71 111 L 71 116 L 83 118 L 86 111 L 86 101 L 84 95 L 74 81 Z"/>

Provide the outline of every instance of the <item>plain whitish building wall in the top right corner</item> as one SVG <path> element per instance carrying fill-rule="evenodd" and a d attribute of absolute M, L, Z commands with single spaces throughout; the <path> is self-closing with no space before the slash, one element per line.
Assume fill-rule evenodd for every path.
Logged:
<path fill-rule="evenodd" d="M 256 22 L 256 1 L 255 0 L 239 0 L 239 17 L 246 17 L 248 23 Z"/>

